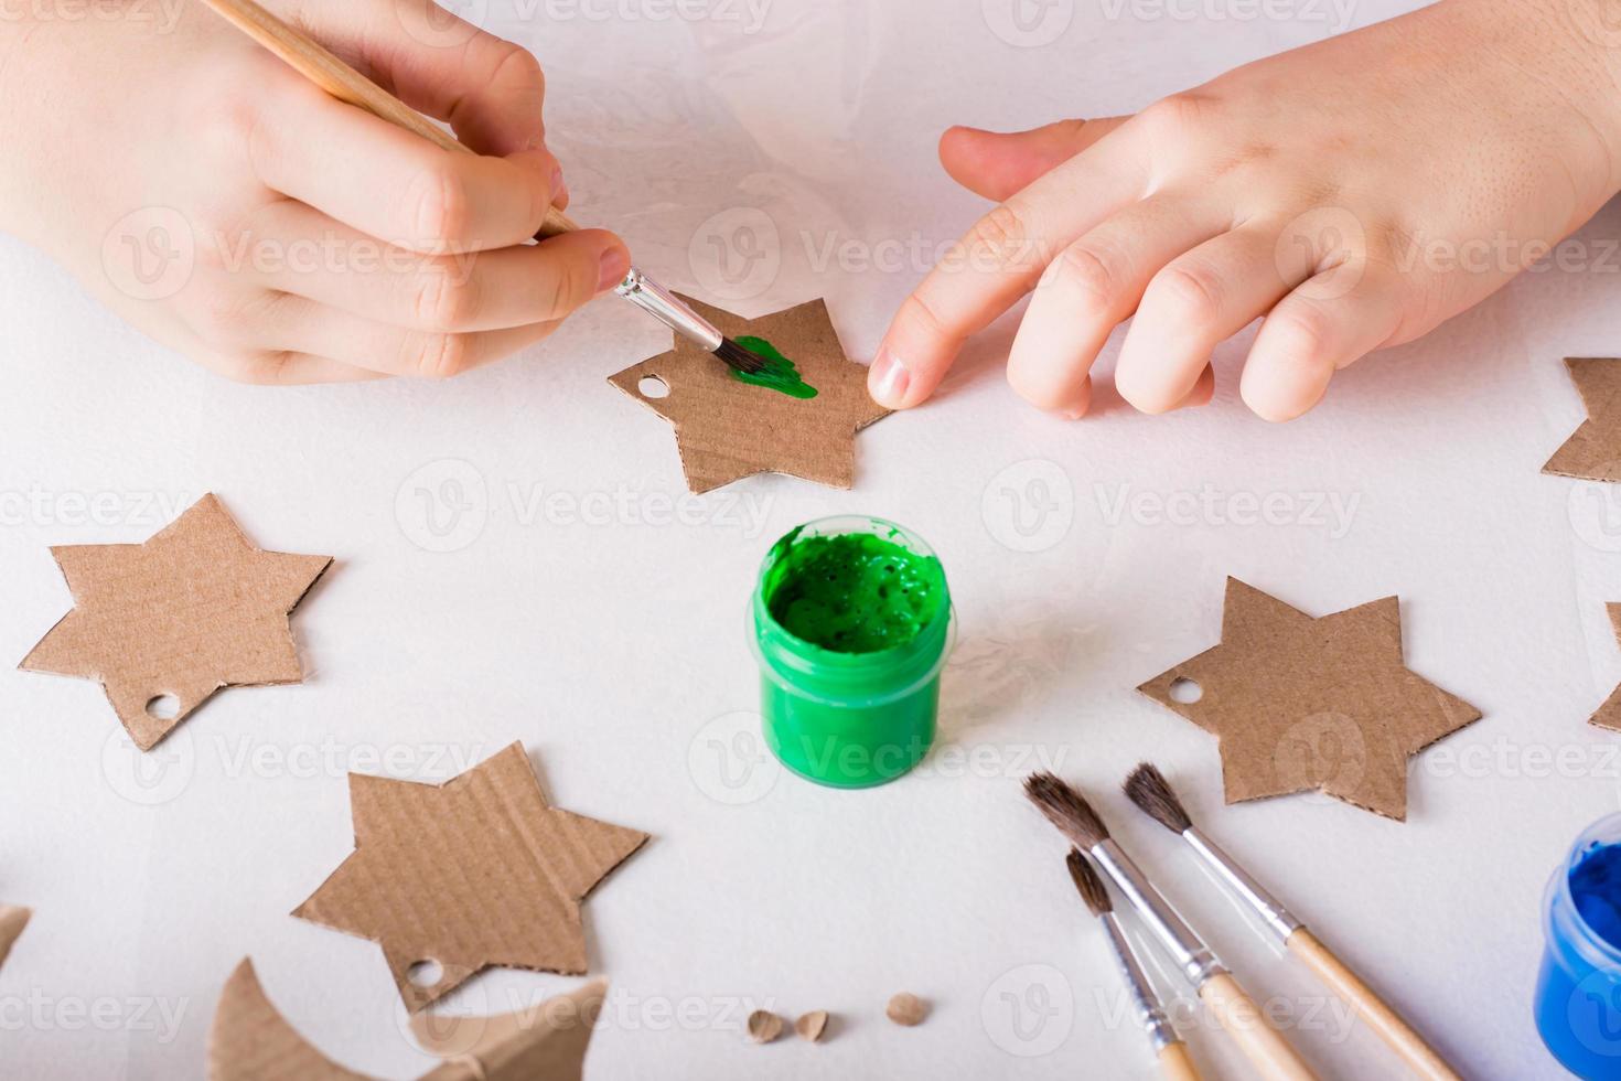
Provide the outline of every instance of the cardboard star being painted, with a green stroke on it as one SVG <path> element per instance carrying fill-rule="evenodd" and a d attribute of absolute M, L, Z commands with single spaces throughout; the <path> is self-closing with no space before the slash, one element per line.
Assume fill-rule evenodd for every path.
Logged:
<path fill-rule="evenodd" d="M 608 381 L 676 426 L 687 488 L 713 491 L 755 473 L 788 473 L 832 488 L 856 481 L 856 433 L 890 410 L 867 394 L 867 370 L 845 357 L 827 303 L 812 300 L 760 319 L 682 297 L 720 332 L 765 339 L 815 387 L 814 399 L 738 379 L 713 353 L 684 337 Z M 650 387 L 665 397 L 644 394 Z"/>

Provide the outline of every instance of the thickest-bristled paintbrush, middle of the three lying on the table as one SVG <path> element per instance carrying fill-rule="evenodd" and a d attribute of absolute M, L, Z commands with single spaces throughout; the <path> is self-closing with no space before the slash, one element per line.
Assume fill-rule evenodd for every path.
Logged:
<path fill-rule="evenodd" d="M 1266 1024 L 1255 1002 L 1227 971 L 1204 940 L 1170 908 L 1125 849 L 1109 836 L 1086 797 L 1052 773 L 1036 773 L 1024 781 L 1024 794 L 1076 848 L 1097 861 L 1143 922 L 1175 959 L 1200 1000 L 1216 1013 L 1250 1063 L 1271 1081 L 1316 1081 L 1311 1068 L 1289 1040 Z"/>

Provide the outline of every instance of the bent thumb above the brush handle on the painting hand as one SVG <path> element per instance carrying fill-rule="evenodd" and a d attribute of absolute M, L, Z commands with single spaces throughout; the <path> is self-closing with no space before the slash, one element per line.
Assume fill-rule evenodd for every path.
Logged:
<path fill-rule="evenodd" d="M 545 146 L 546 78 L 527 49 L 433 0 L 305 3 L 300 15 L 327 49 L 480 154 Z"/>

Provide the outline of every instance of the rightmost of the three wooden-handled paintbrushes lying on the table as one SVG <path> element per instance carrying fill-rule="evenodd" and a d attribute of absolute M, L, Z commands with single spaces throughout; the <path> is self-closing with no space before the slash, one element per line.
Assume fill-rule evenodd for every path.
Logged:
<path fill-rule="evenodd" d="M 1378 1032 L 1379 1039 L 1389 1044 L 1414 1073 L 1431 1081 L 1459 1081 L 1457 1071 L 1407 1024 L 1402 1015 L 1396 1013 L 1396 1010 L 1379 998 L 1360 976 L 1318 942 L 1277 898 L 1261 888 L 1261 883 L 1251 878 L 1243 867 L 1234 862 L 1227 852 L 1193 825 L 1193 818 L 1188 817 L 1187 807 L 1177 799 L 1177 793 L 1170 788 L 1170 781 L 1165 780 L 1164 773 L 1144 762 L 1127 778 L 1125 794 L 1154 822 L 1180 835 L 1188 843 L 1188 848 L 1198 852 L 1200 859 L 1216 872 L 1216 877 L 1255 909 L 1268 930 L 1292 955 L 1305 961 L 1307 968 L 1329 990 L 1350 1003 L 1357 1016 Z"/>

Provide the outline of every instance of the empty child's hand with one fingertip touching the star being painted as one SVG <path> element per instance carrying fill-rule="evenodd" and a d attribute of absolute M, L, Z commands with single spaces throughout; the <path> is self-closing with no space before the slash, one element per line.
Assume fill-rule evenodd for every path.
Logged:
<path fill-rule="evenodd" d="M 1298 417 L 1336 370 L 1478 303 L 1621 188 L 1603 8 L 1443 0 L 1136 117 L 948 131 L 947 170 L 1003 203 L 901 308 L 874 397 L 926 400 L 1034 288 L 1008 381 L 1044 410 L 1086 412 L 1088 371 L 1133 313 L 1120 395 L 1203 405 L 1211 350 L 1266 316 L 1243 400 Z"/>

